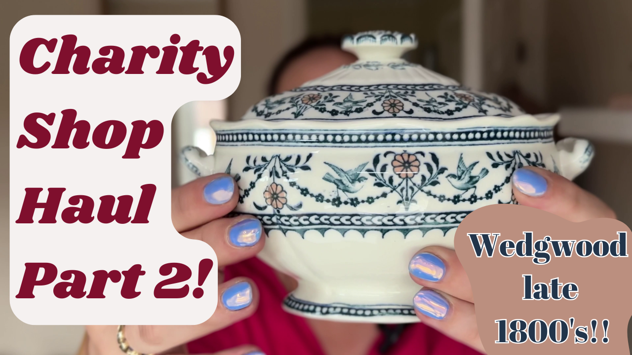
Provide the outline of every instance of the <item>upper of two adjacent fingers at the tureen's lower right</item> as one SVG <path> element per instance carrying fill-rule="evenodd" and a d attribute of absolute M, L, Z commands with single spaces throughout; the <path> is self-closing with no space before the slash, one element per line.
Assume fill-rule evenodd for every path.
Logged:
<path fill-rule="evenodd" d="M 408 264 L 413 280 L 470 303 L 474 302 L 470 279 L 456 256 L 456 251 L 442 246 L 428 246 Z"/>

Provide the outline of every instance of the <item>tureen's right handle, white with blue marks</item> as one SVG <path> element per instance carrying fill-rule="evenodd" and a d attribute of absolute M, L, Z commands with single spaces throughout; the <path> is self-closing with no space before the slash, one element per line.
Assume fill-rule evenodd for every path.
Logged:
<path fill-rule="evenodd" d="M 584 172 L 595 155 L 593 145 L 587 140 L 565 138 L 558 141 L 556 147 L 560 174 L 569 180 Z"/>

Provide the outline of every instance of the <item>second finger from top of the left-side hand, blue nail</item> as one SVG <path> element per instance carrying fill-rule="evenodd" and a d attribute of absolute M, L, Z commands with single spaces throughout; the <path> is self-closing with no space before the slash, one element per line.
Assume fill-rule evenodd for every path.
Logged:
<path fill-rule="evenodd" d="M 252 258 L 265 243 L 261 221 L 251 215 L 216 219 L 182 235 L 209 244 L 217 255 L 219 267 Z"/>

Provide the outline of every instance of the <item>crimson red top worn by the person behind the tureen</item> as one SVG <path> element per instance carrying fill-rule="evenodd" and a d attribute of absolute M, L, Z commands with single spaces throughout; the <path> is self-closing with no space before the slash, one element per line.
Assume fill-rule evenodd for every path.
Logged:
<path fill-rule="evenodd" d="M 190 342 L 188 349 L 191 354 L 250 344 L 258 346 L 267 355 L 325 355 L 307 322 L 281 308 L 288 292 L 272 268 L 252 258 L 226 267 L 224 272 L 226 280 L 245 276 L 257 284 L 260 293 L 258 309 L 250 318 Z M 380 355 L 378 348 L 381 343 L 382 335 L 368 355 Z M 387 352 L 387 355 L 404 354 L 479 353 L 423 323 L 414 323 L 404 329 L 399 341 Z"/>

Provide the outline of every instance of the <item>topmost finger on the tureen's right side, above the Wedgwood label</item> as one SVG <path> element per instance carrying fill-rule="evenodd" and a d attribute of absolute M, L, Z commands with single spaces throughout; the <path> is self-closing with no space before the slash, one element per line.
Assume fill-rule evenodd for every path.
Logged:
<path fill-rule="evenodd" d="M 554 172 L 523 167 L 514 172 L 512 182 L 514 195 L 521 205 L 550 212 L 571 222 L 616 219 L 614 211 L 597 196 Z"/>

